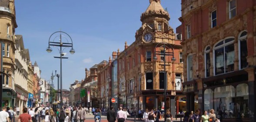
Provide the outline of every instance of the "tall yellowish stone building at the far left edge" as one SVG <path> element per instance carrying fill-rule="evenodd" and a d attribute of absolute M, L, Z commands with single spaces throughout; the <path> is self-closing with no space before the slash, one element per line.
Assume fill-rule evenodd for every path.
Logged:
<path fill-rule="evenodd" d="M 0 43 L 1 43 L 1 71 L 9 76 L 3 77 L 3 104 L 9 107 L 14 106 L 14 98 L 17 96 L 14 91 L 15 67 L 15 28 L 17 28 L 14 0 L 0 0 Z M 1 103 L 2 104 L 2 103 Z M 3 106 L 3 105 L 2 105 Z"/>

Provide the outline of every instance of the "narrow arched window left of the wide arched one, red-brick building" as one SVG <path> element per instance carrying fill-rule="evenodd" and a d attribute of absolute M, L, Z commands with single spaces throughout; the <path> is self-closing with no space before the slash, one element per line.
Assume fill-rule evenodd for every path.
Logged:
<path fill-rule="evenodd" d="M 211 66 L 211 60 L 210 60 L 210 46 L 207 46 L 204 51 L 204 61 L 205 61 L 205 76 L 210 76 L 210 66 Z"/>

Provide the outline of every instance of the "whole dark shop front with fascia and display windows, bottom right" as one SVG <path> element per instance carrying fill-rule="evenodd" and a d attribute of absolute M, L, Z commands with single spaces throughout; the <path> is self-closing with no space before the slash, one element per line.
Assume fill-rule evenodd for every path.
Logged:
<path fill-rule="evenodd" d="M 203 108 L 221 122 L 254 122 L 255 86 L 244 70 L 203 79 Z"/>

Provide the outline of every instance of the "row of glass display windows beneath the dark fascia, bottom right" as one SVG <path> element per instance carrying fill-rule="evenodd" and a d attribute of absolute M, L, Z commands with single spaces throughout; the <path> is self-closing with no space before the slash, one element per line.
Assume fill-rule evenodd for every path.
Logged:
<path fill-rule="evenodd" d="M 249 90 L 243 83 L 217 87 L 204 92 L 204 110 L 214 109 L 217 118 L 249 118 Z"/>

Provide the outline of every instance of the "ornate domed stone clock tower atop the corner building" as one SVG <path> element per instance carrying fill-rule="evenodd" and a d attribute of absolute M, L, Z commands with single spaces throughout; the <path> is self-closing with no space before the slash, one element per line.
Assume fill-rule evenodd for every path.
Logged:
<path fill-rule="evenodd" d="M 141 43 L 172 43 L 173 28 L 169 26 L 170 15 L 163 9 L 160 0 L 150 0 L 150 5 L 140 16 L 142 26 L 136 32 L 136 41 Z"/>

